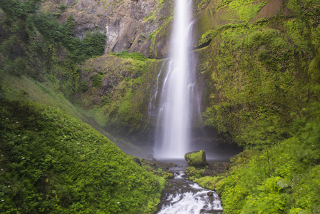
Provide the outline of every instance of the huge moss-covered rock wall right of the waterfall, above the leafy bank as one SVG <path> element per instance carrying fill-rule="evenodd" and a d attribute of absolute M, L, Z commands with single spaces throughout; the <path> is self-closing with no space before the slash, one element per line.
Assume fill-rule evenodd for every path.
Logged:
<path fill-rule="evenodd" d="M 223 8 L 238 15 L 247 8 L 232 5 Z M 210 45 L 197 54 L 207 88 L 207 126 L 246 146 L 263 147 L 291 135 L 292 122 L 319 96 L 320 22 L 310 16 L 319 14 L 313 9 L 319 6 L 301 5 L 265 4 L 253 18 L 239 16 L 243 23 L 203 34 L 200 44 Z"/>

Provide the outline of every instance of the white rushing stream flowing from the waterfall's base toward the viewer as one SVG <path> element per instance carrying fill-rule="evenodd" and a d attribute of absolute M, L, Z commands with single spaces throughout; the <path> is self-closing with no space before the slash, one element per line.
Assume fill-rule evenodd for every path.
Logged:
<path fill-rule="evenodd" d="M 177 166 L 170 168 L 168 172 L 173 173 L 175 178 L 167 180 L 157 213 L 222 214 L 222 205 L 217 193 L 185 179 L 185 168 L 187 168 L 185 160 L 179 162 L 175 160 L 174 162 L 177 163 Z M 212 195 L 208 196 L 207 193 Z"/>

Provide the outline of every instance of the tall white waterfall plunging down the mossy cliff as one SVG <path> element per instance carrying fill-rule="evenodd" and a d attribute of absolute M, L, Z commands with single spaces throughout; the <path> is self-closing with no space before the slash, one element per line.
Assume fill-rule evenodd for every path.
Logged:
<path fill-rule="evenodd" d="M 191 2 L 175 1 L 175 16 L 160 95 L 155 158 L 183 158 L 190 145 L 191 98 L 195 81 L 190 74 Z"/>

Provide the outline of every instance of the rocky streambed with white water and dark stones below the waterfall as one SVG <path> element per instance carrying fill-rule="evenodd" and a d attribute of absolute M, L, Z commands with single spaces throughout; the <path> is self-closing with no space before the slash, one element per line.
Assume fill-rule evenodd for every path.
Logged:
<path fill-rule="evenodd" d="M 165 190 L 162 191 L 157 213 L 222 213 L 222 205 L 215 191 L 202 188 L 197 183 L 187 179 L 185 169 L 187 162 L 184 159 L 143 161 L 153 168 L 162 168 L 172 178 L 167 179 Z M 204 176 L 215 176 L 224 173 L 229 163 L 220 163 L 207 160 Z"/>

